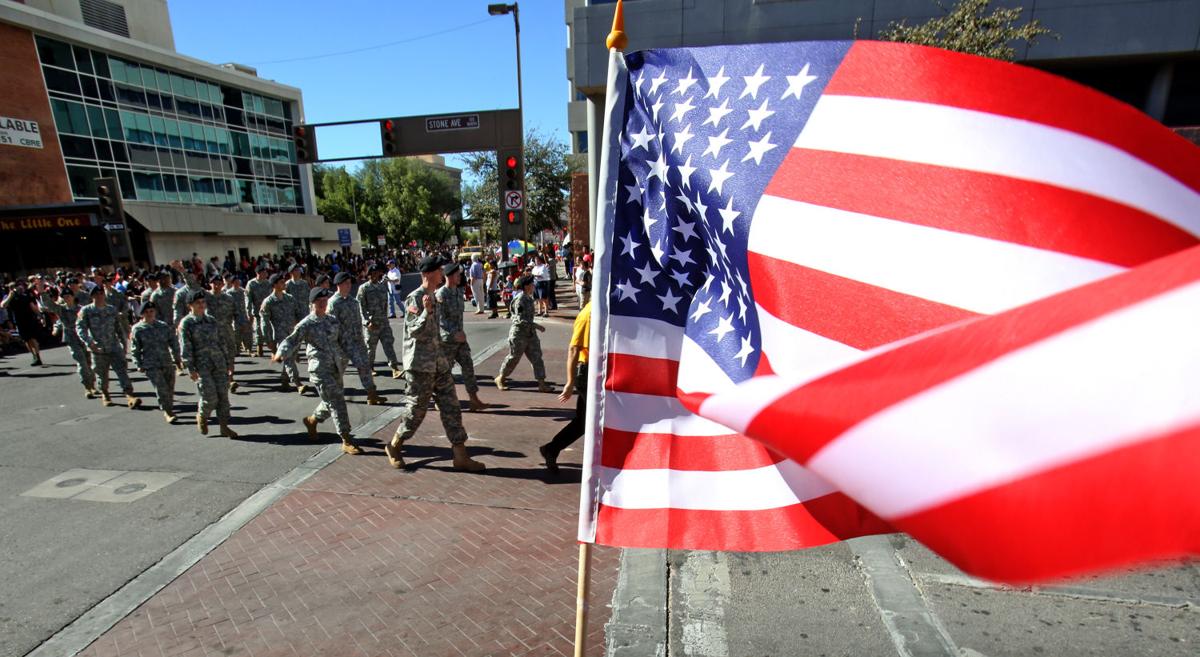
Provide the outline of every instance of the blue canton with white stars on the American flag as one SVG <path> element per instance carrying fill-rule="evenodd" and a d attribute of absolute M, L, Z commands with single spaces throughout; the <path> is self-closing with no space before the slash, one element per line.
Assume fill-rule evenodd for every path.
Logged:
<path fill-rule="evenodd" d="M 848 42 L 626 55 L 611 312 L 683 326 L 733 381 L 762 332 L 746 245 L 758 199 Z"/>

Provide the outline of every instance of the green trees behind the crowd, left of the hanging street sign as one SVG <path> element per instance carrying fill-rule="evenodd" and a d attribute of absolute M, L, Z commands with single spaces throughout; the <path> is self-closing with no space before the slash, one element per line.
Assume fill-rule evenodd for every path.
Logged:
<path fill-rule="evenodd" d="M 328 222 L 354 223 L 367 243 L 385 235 L 389 243 L 442 242 L 454 233 L 462 209 L 450 176 L 416 159 L 370 159 L 356 171 L 313 167 L 317 211 Z"/>

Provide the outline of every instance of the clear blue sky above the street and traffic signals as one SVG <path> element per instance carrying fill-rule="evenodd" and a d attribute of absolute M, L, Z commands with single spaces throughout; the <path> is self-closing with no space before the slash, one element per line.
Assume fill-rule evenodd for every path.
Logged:
<path fill-rule="evenodd" d="M 308 122 L 517 107 L 512 17 L 488 16 L 486 0 L 169 0 L 168 5 L 176 50 L 214 64 L 248 64 L 259 77 L 300 88 Z M 569 143 L 563 2 L 524 0 L 520 7 L 526 129 Z M 469 26 L 455 29 L 463 25 Z M 360 53 L 278 61 L 445 30 L 454 31 Z M 374 128 L 319 134 L 322 155 L 379 149 Z"/>

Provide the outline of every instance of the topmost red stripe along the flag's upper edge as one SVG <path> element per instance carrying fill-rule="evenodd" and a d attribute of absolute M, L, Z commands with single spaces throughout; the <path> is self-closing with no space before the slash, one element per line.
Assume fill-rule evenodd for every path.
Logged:
<path fill-rule="evenodd" d="M 1127 151 L 1200 191 L 1200 152 L 1193 144 L 1168 135 L 1160 123 L 1130 106 L 1034 68 L 936 48 L 858 41 L 824 94 L 952 106 L 1068 129 Z"/>

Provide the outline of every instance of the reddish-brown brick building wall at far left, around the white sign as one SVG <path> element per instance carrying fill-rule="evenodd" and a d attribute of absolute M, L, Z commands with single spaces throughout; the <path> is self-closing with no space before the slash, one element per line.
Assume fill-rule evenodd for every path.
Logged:
<path fill-rule="evenodd" d="M 0 116 L 36 121 L 42 137 L 41 149 L 0 145 L 0 204 L 71 203 L 54 115 L 29 30 L 0 23 L 0 71 L 5 72 L 0 74 Z"/>

